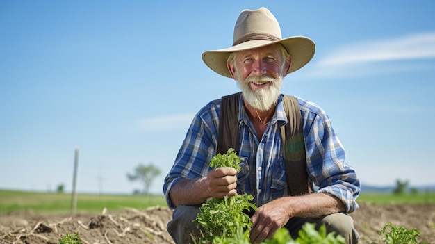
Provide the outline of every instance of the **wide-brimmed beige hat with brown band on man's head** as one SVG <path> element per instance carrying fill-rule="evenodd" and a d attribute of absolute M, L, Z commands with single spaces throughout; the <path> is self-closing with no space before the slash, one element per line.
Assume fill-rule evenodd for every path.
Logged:
<path fill-rule="evenodd" d="M 231 78 L 227 58 L 234 51 L 243 51 L 280 43 L 291 56 L 288 73 L 299 70 L 314 56 L 315 44 L 304 36 L 281 37 L 277 19 L 267 8 L 243 10 L 234 26 L 233 46 L 226 49 L 205 51 L 202 60 L 211 70 Z"/>

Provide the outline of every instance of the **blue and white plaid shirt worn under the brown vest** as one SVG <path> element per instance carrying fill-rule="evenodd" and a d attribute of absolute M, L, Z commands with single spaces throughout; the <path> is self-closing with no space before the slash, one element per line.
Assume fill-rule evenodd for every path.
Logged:
<path fill-rule="evenodd" d="M 359 179 L 350 165 L 345 163 L 345 151 L 331 127 L 329 117 L 322 108 L 297 98 L 301 109 L 306 146 L 306 170 L 309 179 L 318 186 L 318 193 L 327 193 L 340 199 L 347 212 L 358 208 L 355 199 L 360 192 Z M 254 125 L 239 101 L 240 149 L 242 171 L 237 175 L 237 192 L 254 196 L 261 206 L 288 195 L 288 185 L 281 150 L 279 127 L 287 122 L 282 98 L 260 140 Z M 220 99 L 211 101 L 195 115 L 172 169 L 165 177 L 163 192 L 168 206 L 174 208 L 169 192 L 181 178 L 205 177 L 211 170 L 208 163 L 216 154 L 219 129 Z"/>

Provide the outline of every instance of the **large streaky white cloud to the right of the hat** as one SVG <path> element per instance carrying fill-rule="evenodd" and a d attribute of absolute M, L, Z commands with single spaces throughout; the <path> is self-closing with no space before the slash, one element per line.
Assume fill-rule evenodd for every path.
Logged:
<path fill-rule="evenodd" d="M 419 62 L 435 58 L 435 33 L 372 40 L 331 49 L 314 63 L 314 76 L 362 76 L 403 70 L 422 70 L 433 65 Z M 407 63 L 394 61 L 411 61 Z"/>

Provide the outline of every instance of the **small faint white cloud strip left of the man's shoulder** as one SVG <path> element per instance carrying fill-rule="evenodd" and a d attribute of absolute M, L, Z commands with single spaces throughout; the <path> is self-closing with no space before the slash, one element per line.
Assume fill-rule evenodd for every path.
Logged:
<path fill-rule="evenodd" d="M 161 117 L 147 117 L 136 121 L 136 126 L 141 131 L 162 131 L 172 129 L 185 129 L 190 126 L 192 114 L 167 115 Z"/>

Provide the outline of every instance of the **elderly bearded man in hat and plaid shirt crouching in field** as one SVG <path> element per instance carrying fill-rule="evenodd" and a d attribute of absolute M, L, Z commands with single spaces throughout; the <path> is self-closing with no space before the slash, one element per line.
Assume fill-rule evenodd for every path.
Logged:
<path fill-rule="evenodd" d="M 281 227 L 295 237 L 305 222 L 324 224 L 347 243 L 357 243 L 358 233 L 347 213 L 358 209 L 359 179 L 345 163 L 329 117 L 299 97 L 292 97 L 289 106 L 292 103 L 284 101 L 290 96 L 281 95 L 284 76 L 309 63 L 314 51 L 309 38 L 281 38 L 277 19 L 260 8 L 240 13 L 232 47 L 204 52 L 204 63 L 235 79 L 241 95 L 211 101 L 195 115 L 165 178 L 163 191 L 174 209 L 167 229 L 176 243 L 191 243 L 191 234 L 199 233 L 192 220 L 209 197 L 243 193 L 253 195 L 258 206 L 251 217 L 252 243 L 272 238 Z M 284 129 L 288 124 L 296 133 L 289 132 L 292 127 Z M 290 152 L 292 145 L 299 148 L 297 153 Z M 239 173 L 208 166 L 228 147 L 243 159 Z"/>

